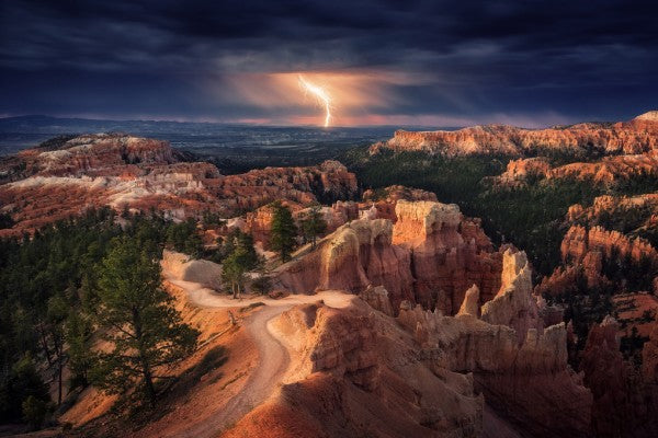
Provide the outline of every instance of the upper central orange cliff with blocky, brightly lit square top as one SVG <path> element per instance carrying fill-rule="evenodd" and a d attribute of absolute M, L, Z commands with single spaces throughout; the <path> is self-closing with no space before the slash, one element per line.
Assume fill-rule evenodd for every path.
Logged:
<path fill-rule="evenodd" d="M 319 242 L 317 251 L 277 269 L 281 288 L 360 292 L 383 286 L 393 309 L 401 301 L 455 314 L 472 285 L 481 302 L 500 288 L 502 254 L 477 221 L 455 205 L 398 200 L 397 221 L 359 219 Z"/>

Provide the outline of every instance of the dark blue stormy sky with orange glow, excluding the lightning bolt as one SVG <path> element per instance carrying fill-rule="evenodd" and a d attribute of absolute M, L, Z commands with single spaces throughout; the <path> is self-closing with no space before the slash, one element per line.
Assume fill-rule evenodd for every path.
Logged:
<path fill-rule="evenodd" d="M 0 0 L 0 116 L 537 127 L 658 107 L 654 1 Z"/>

